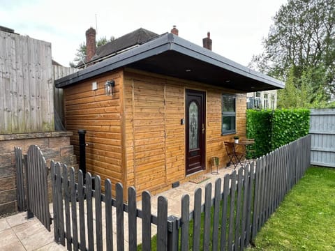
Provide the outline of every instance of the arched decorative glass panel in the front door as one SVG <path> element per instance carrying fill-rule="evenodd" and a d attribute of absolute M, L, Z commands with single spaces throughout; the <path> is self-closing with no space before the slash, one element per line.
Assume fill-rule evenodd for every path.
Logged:
<path fill-rule="evenodd" d="M 199 128 L 199 107 L 196 102 L 192 101 L 189 108 L 189 147 L 190 150 L 199 148 L 199 137 L 198 137 L 198 128 Z"/>

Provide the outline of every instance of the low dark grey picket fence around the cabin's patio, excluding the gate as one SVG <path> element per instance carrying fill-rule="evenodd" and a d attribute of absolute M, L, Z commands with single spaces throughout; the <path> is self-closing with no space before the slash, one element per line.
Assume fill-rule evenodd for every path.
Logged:
<path fill-rule="evenodd" d="M 129 250 L 136 250 L 140 242 L 142 250 L 243 250 L 304 175 L 310 165 L 310 146 L 308 135 L 259 158 L 255 166 L 218 178 L 214 197 L 208 183 L 204 203 L 202 190 L 195 190 L 193 211 L 189 195 L 184 195 L 181 218 L 168 215 L 165 197 L 158 197 L 158 213 L 154 215 L 148 192 L 142 193 L 139 209 L 134 188 L 128 189 L 128 204 L 124 204 L 120 183 L 115 186 L 114 199 L 108 179 L 103 194 L 99 176 L 93 190 L 91 174 L 84 177 L 78 172 L 75 182 L 73 168 L 52 162 L 54 239 L 68 250 L 124 250 L 126 236 Z M 141 225 L 137 225 L 139 218 Z M 156 247 L 151 246 L 152 225 L 157 227 Z M 142 241 L 137 241 L 137 229 L 142 230 Z"/>

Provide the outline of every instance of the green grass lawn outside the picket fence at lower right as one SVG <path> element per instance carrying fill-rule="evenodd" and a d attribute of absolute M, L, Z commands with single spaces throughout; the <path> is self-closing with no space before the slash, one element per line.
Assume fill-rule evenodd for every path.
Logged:
<path fill-rule="evenodd" d="M 253 242 L 253 250 L 335 250 L 335 168 L 310 167 Z"/>

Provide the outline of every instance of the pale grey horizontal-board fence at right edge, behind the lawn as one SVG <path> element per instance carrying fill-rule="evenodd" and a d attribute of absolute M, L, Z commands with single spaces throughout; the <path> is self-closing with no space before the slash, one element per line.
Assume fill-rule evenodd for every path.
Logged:
<path fill-rule="evenodd" d="M 311 164 L 335 167 L 335 109 L 311 109 Z"/>

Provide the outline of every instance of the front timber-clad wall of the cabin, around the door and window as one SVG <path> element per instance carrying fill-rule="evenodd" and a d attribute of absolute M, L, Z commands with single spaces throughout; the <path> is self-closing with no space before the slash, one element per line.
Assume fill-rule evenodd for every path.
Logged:
<path fill-rule="evenodd" d="M 158 75 L 129 70 L 124 76 L 126 100 L 126 160 L 127 187 L 134 185 L 138 192 L 156 193 L 170 188 L 175 181 L 187 181 L 185 176 L 185 89 L 207 92 L 207 168 L 211 157 L 220 158 L 225 167 L 228 158 L 225 140 L 221 136 L 221 93 L 231 93 L 203 84 L 186 82 Z M 237 94 L 237 134 L 246 132 L 246 95 Z M 199 175 L 199 174 L 198 174 Z"/>

